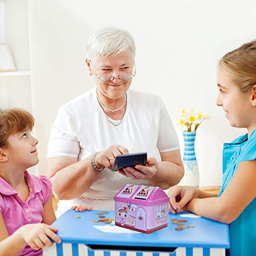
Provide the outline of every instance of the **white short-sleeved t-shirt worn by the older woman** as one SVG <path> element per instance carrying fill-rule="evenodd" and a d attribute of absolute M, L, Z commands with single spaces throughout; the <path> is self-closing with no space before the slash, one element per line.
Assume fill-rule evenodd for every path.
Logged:
<path fill-rule="evenodd" d="M 161 160 L 160 152 L 180 148 L 159 96 L 130 89 L 123 121 L 114 126 L 100 108 L 94 88 L 60 107 L 51 127 L 48 157 L 74 157 L 80 161 L 114 144 L 126 147 L 129 153 L 147 152 L 148 158 L 157 160 Z M 114 209 L 113 197 L 126 184 L 150 185 L 147 180 L 132 180 L 105 168 L 79 198 L 59 201 L 58 210 L 66 211 L 77 204 Z"/>

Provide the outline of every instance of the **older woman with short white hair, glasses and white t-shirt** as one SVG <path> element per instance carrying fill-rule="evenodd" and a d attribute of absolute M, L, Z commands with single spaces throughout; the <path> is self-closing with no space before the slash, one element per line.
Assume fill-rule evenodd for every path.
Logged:
<path fill-rule="evenodd" d="M 184 174 L 179 141 L 161 98 L 129 89 L 135 70 L 130 33 L 104 29 L 87 45 L 96 88 L 61 106 L 51 128 L 48 175 L 63 212 L 71 205 L 114 209 L 125 184 L 167 189 Z M 111 172 L 115 157 L 147 152 L 146 166 Z"/>

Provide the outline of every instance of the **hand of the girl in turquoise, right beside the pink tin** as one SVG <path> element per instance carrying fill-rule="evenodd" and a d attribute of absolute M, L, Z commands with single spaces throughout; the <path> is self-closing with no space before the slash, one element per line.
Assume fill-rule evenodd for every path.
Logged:
<path fill-rule="evenodd" d="M 169 211 L 186 211 L 186 204 L 195 197 L 197 188 L 191 186 L 173 186 L 168 191 Z"/>

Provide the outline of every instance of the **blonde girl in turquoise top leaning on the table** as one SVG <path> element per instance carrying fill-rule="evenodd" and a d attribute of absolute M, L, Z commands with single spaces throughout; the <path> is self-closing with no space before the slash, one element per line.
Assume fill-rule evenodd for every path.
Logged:
<path fill-rule="evenodd" d="M 222 57 L 217 83 L 216 104 L 222 107 L 231 126 L 244 127 L 248 133 L 224 144 L 219 195 L 174 186 L 168 193 L 169 208 L 230 224 L 230 255 L 255 255 L 256 40 Z"/>

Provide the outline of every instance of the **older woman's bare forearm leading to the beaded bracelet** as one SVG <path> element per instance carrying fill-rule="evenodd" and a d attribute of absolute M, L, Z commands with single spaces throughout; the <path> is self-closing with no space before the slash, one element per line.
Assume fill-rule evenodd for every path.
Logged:
<path fill-rule="evenodd" d="M 50 178 L 55 197 L 71 200 L 84 193 L 95 181 L 98 173 L 91 167 L 91 157 L 60 169 Z"/>

